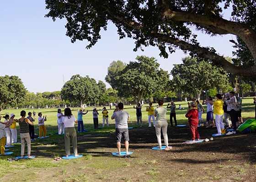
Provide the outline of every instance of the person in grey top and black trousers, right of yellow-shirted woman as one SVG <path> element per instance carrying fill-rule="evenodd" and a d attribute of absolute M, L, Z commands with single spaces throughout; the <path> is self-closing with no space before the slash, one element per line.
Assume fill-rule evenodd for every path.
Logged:
<path fill-rule="evenodd" d="M 235 92 L 234 91 L 230 91 L 229 92 L 230 95 L 230 100 L 226 101 L 226 103 L 228 104 L 228 108 L 227 111 L 229 111 L 229 115 L 231 118 L 231 122 L 232 122 L 232 127 L 235 130 L 234 134 L 236 133 L 236 123 L 238 122 L 238 115 L 237 115 L 237 101 L 235 98 Z"/>

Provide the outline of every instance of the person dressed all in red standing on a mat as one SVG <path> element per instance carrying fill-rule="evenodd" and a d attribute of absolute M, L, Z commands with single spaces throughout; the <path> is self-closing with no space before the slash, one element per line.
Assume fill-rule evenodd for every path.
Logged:
<path fill-rule="evenodd" d="M 198 132 L 198 111 L 196 105 L 194 103 L 191 104 L 192 109 L 188 109 L 187 114 L 185 115 L 188 118 L 189 128 L 191 132 L 191 141 L 190 143 L 194 143 L 197 140 L 200 140 L 200 135 Z"/>

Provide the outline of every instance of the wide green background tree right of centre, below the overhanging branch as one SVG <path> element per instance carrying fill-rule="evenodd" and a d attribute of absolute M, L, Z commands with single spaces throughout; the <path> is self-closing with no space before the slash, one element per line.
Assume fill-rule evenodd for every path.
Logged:
<path fill-rule="evenodd" d="M 216 87 L 226 92 L 229 89 L 227 72 L 207 61 L 198 61 L 195 57 L 183 58 L 183 63 L 174 65 L 171 71 L 172 86 L 177 91 L 187 92 L 200 99 L 202 91 Z"/>

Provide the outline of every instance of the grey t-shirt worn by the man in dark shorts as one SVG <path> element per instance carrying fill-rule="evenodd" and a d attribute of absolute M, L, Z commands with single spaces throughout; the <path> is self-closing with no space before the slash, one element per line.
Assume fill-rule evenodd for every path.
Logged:
<path fill-rule="evenodd" d="M 116 111 L 112 115 L 116 121 L 116 128 L 128 128 L 128 118 L 129 114 L 126 111 Z"/>

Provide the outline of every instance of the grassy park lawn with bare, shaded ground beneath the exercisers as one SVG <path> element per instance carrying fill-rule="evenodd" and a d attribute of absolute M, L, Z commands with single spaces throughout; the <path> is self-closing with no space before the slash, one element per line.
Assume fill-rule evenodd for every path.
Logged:
<path fill-rule="evenodd" d="M 252 103 L 252 98 L 243 100 L 244 118 L 254 117 Z M 186 109 L 177 110 L 178 123 L 187 123 L 184 116 L 187 103 L 176 102 L 176 106 L 179 104 Z M 173 150 L 152 151 L 150 148 L 157 141 L 154 128 L 147 127 L 146 106 L 143 107 L 142 127 L 136 126 L 133 106 L 125 106 L 131 116 L 129 126 L 134 127 L 130 130 L 130 150 L 134 153 L 130 158 L 112 157 L 111 152 L 116 152 L 114 121 L 110 121 L 108 128 L 94 130 L 92 109 L 88 108 L 88 114 L 83 117 L 89 132 L 78 133 L 78 151 L 84 157 L 58 162 L 53 158 L 64 155 L 64 136 L 56 135 L 57 109 L 35 109 L 48 116 L 45 123 L 50 137 L 32 143 L 35 159 L 8 162 L 7 158 L 20 155 L 19 143 L 10 149 L 14 152 L 12 156 L 0 156 L 0 182 L 253 182 L 256 179 L 256 134 L 216 137 L 213 142 L 183 145 L 182 142 L 190 139 L 188 128 L 169 127 Z M 72 111 L 77 117 L 78 108 Z M 19 112 L 20 109 L 4 110 L 1 115 L 14 113 L 19 116 Z M 113 110 L 109 112 L 111 115 Z M 205 114 L 203 118 L 206 118 Z M 35 129 L 38 133 L 37 125 Z M 215 133 L 216 128 L 201 127 L 199 132 L 206 138 Z"/>

